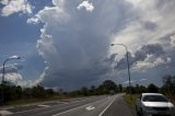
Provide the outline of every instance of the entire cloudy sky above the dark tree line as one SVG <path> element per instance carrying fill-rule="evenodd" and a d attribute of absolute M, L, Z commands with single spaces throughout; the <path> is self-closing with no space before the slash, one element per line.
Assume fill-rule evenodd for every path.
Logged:
<path fill-rule="evenodd" d="M 75 90 L 104 80 L 162 85 L 175 74 L 174 0 L 1 0 L 0 76 Z"/>

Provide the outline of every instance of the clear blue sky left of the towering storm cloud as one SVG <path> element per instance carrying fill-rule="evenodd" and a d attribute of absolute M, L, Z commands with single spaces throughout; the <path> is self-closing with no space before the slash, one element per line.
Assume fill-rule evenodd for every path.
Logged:
<path fill-rule="evenodd" d="M 33 13 L 50 4 L 48 0 L 43 2 L 31 0 L 31 4 L 37 5 L 33 9 Z M 1 4 L 1 10 L 4 5 Z M 0 16 L 0 63 L 12 55 L 22 57 L 20 61 L 10 61 L 10 63 L 19 62 L 24 66 L 20 70 L 25 80 L 34 80 L 42 73 L 45 65 L 36 49 L 36 42 L 39 38 L 42 24 L 27 24 L 26 20 L 33 14 L 14 13 L 9 16 Z"/>

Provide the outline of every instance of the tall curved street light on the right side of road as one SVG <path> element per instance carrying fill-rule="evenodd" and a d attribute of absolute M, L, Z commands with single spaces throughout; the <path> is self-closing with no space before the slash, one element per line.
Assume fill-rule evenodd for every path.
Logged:
<path fill-rule="evenodd" d="M 129 57 L 128 57 L 128 48 L 125 44 L 110 44 L 110 46 L 115 46 L 115 45 L 119 45 L 119 46 L 124 46 L 126 49 L 126 54 L 127 54 L 127 66 L 128 66 L 128 78 L 129 78 L 129 93 L 131 94 L 131 83 L 130 83 L 130 69 L 129 69 Z"/>

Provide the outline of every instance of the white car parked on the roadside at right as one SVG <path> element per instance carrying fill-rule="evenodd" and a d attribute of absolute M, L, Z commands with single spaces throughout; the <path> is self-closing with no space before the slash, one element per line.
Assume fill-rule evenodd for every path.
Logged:
<path fill-rule="evenodd" d="M 136 103 L 136 111 L 141 116 L 175 116 L 174 105 L 160 93 L 142 93 Z"/>

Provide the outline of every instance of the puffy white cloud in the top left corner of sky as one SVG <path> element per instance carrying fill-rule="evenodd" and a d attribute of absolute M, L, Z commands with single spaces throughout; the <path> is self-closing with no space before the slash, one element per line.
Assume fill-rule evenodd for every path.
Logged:
<path fill-rule="evenodd" d="M 32 5 L 27 0 L 2 0 L 0 3 L 4 5 L 1 10 L 2 16 L 9 16 L 18 12 L 32 13 Z"/>

